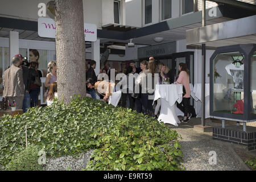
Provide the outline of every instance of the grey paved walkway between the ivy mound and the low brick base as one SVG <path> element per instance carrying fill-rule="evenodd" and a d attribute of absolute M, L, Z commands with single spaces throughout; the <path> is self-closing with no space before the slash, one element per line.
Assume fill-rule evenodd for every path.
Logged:
<path fill-rule="evenodd" d="M 183 166 L 188 171 L 244 171 L 249 168 L 243 163 L 242 159 L 235 151 L 243 151 L 246 155 L 246 147 L 221 142 L 212 139 L 212 132 L 199 133 L 193 130 L 193 125 L 200 125 L 200 118 L 192 118 L 188 123 L 181 123 L 179 127 L 168 125 L 171 129 L 181 134 L 181 151 L 184 154 Z M 234 123 L 236 124 L 236 123 Z M 206 120 L 207 126 L 221 126 L 221 123 L 215 123 Z M 226 125 L 228 127 L 228 125 Z M 242 126 L 241 126 L 242 127 Z M 216 164 L 209 164 L 210 151 L 215 151 Z M 253 154 L 253 153 L 250 153 Z M 242 154 L 245 155 L 245 154 Z"/>

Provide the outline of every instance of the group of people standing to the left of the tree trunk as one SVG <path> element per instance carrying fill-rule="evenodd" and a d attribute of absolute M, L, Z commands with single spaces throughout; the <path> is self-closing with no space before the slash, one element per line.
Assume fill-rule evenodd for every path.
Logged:
<path fill-rule="evenodd" d="M 3 98 L 9 103 L 15 102 L 16 109 L 22 109 L 23 113 L 26 113 L 30 107 L 39 105 L 38 97 L 42 86 L 40 78 L 43 77 L 38 69 L 39 52 L 36 49 L 30 49 L 29 55 L 29 62 L 24 60 L 20 54 L 13 56 L 11 66 L 3 73 Z M 53 96 L 57 92 L 55 61 L 48 64 L 48 72 L 46 78 L 47 105 L 53 100 L 52 92 Z"/>

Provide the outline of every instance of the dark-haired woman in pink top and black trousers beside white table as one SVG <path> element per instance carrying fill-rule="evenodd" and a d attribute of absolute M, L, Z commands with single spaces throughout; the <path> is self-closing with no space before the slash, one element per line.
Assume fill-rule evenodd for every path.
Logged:
<path fill-rule="evenodd" d="M 185 63 L 180 63 L 179 64 L 179 78 L 177 79 L 177 84 L 182 84 L 185 88 L 183 88 L 183 99 L 182 102 L 177 103 L 177 107 L 183 111 L 184 117 L 181 120 L 181 122 L 188 122 L 190 119 L 190 113 L 189 113 L 189 98 L 190 98 L 190 87 L 189 87 L 189 71 L 187 68 L 187 64 Z"/>

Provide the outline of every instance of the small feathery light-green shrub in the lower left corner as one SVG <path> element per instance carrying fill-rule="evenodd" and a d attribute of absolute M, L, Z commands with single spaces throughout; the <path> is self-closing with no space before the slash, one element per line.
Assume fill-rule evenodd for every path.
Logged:
<path fill-rule="evenodd" d="M 37 146 L 28 146 L 25 150 L 13 156 L 13 159 L 7 164 L 6 171 L 42 171 L 43 166 L 38 164 Z"/>

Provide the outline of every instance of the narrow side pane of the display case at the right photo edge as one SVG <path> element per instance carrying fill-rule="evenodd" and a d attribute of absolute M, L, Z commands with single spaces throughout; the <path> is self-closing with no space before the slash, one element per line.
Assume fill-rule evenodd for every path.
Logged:
<path fill-rule="evenodd" d="M 251 56 L 251 112 L 256 114 L 256 51 Z"/>

